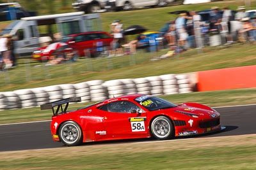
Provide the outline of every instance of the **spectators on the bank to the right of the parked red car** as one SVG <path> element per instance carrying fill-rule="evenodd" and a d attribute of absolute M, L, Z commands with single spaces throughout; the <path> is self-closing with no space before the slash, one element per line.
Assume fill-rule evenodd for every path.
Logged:
<path fill-rule="evenodd" d="M 203 48 L 211 45 L 211 36 L 218 35 L 220 45 L 231 45 L 236 42 L 256 42 L 256 16 L 248 17 L 244 6 L 238 6 L 234 12 L 225 6 L 220 9 L 212 6 L 209 11 L 209 20 L 202 21 L 202 15 L 192 10 L 188 13 L 179 13 L 179 17 L 170 21 L 168 31 L 163 34 L 163 41 L 173 50 L 173 53 L 180 53 L 190 48 Z M 204 18 L 205 19 L 205 18 Z M 235 21 L 235 22 L 233 22 Z M 143 35 L 124 43 L 122 35 L 122 24 L 114 21 L 111 25 L 110 33 L 115 39 L 111 47 L 112 53 L 122 55 L 124 49 L 129 48 L 130 53 L 136 53 L 140 48 L 140 41 Z M 169 52 L 170 53 L 170 52 Z M 171 54 L 173 54 L 171 53 Z"/>

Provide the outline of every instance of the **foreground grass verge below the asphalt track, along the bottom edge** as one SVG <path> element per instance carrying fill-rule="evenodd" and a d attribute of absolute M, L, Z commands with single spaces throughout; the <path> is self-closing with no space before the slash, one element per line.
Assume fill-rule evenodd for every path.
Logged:
<path fill-rule="evenodd" d="M 256 135 L 1 152 L 1 169 L 256 168 Z"/>

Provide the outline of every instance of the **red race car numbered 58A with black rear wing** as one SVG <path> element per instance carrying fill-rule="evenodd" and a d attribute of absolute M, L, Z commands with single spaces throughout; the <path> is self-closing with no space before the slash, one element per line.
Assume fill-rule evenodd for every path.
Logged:
<path fill-rule="evenodd" d="M 171 139 L 221 130 L 220 113 L 198 103 L 176 105 L 159 97 L 132 94 L 67 111 L 68 103 L 78 101 L 80 97 L 72 97 L 41 105 L 41 110 L 53 111 L 54 141 L 76 146 L 88 141 Z"/>

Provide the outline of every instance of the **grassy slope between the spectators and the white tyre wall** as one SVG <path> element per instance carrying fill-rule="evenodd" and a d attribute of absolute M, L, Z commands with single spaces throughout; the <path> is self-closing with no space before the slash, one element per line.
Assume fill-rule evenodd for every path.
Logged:
<path fill-rule="evenodd" d="M 1 91 L 44 87 L 88 80 L 113 80 L 140 78 L 161 74 L 182 74 L 226 67 L 252 66 L 256 64 L 255 45 L 207 47 L 204 51 L 191 50 L 168 59 L 151 61 L 167 52 L 138 52 L 122 57 L 80 59 L 72 64 L 45 66 L 45 63 L 20 59 L 15 69 L 0 73 Z M 243 52 L 243 53 L 241 53 Z"/>

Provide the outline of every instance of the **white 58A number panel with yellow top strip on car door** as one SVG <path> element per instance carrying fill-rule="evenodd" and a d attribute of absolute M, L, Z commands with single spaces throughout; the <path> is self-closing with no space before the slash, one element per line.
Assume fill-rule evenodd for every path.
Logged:
<path fill-rule="evenodd" d="M 129 122 L 131 122 L 132 132 L 145 132 L 145 121 L 147 118 L 145 117 L 131 117 L 129 118 Z"/>

